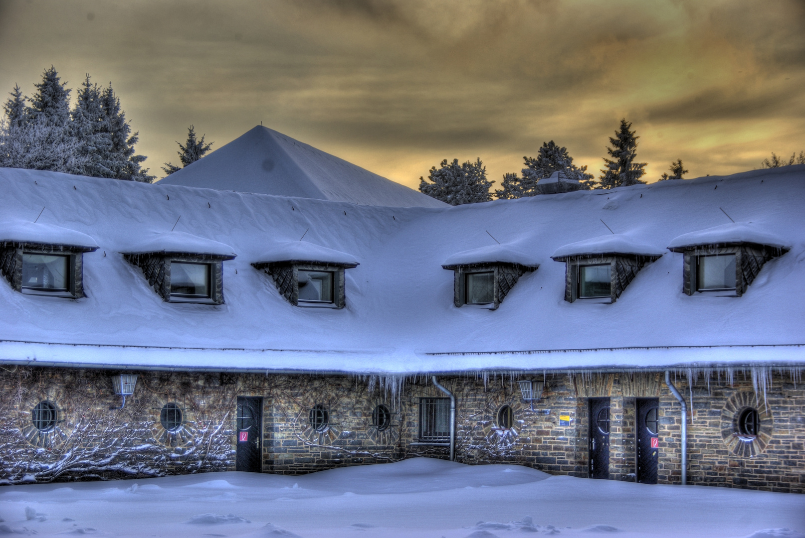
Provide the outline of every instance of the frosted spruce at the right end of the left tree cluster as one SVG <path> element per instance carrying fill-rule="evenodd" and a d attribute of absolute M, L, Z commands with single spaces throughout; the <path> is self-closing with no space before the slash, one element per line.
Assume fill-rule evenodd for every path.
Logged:
<path fill-rule="evenodd" d="M 143 155 L 134 154 L 134 145 L 139 141 L 139 131 L 132 134 L 126 113 L 120 108 L 120 99 L 114 94 L 112 83 L 101 91 L 101 109 L 104 112 L 105 129 L 108 130 L 112 142 L 109 154 L 110 169 L 115 179 L 151 183 L 155 175 L 148 175 L 148 169 L 142 168 L 147 159 Z"/>

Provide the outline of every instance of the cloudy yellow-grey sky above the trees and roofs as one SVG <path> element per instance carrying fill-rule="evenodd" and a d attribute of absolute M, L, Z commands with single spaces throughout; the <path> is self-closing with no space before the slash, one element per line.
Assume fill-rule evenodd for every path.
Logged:
<path fill-rule="evenodd" d="M 0 0 L 0 92 L 112 82 L 151 173 L 188 125 L 263 125 L 415 187 L 542 142 L 598 175 L 621 117 L 657 179 L 805 150 L 803 0 Z"/>

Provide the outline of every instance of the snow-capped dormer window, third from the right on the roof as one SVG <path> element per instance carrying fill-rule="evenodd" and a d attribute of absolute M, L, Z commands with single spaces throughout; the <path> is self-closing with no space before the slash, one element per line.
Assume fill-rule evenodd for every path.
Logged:
<path fill-rule="evenodd" d="M 453 272 L 453 304 L 495 310 L 524 273 L 539 267 L 534 257 L 510 244 L 475 248 L 449 257 L 443 269 Z"/>

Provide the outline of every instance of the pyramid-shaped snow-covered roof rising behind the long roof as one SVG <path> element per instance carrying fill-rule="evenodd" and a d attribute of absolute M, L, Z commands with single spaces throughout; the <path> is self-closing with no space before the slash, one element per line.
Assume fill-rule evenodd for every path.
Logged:
<path fill-rule="evenodd" d="M 262 125 L 159 183 L 359 205 L 448 205 Z"/>

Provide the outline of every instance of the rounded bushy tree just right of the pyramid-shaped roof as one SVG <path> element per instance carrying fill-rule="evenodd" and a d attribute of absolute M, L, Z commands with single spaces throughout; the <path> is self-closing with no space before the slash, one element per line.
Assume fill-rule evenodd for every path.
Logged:
<path fill-rule="evenodd" d="M 440 168 L 433 166 L 427 175 L 432 183 L 419 177 L 419 191 L 450 205 L 457 206 L 462 203 L 489 202 L 492 199 L 489 187 L 494 181 L 486 179 L 486 166 L 478 158 L 476 162 L 467 161 L 458 163 L 454 158 L 441 162 Z"/>

